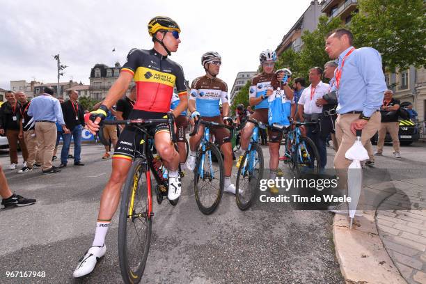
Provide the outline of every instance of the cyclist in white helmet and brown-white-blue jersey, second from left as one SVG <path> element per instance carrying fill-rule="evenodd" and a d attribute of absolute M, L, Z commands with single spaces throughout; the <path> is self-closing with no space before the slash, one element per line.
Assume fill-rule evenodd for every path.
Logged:
<path fill-rule="evenodd" d="M 221 68 L 221 56 L 217 52 L 206 52 L 201 56 L 201 64 L 205 69 L 205 75 L 196 78 L 191 85 L 189 95 L 189 111 L 191 111 L 191 124 L 194 123 L 194 117 L 200 116 L 205 121 L 213 121 L 223 124 L 229 115 L 228 86 L 219 79 L 219 69 Z M 223 119 L 219 104 L 222 102 Z M 222 127 L 215 127 L 210 130 L 219 143 L 223 153 L 223 166 L 225 173 L 224 191 L 235 194 L 235 186 L 231 183 L 230 176 L 232 172 L 232 145 L 230 143 L 230 132 Z M 198 133 L 189 139 L 189 156 L 187 159 L 187 168 L 194 171 L 196 164 L 196 145 L 200 142 L 204 133 L 204 125 L 200 125 Z"/>

